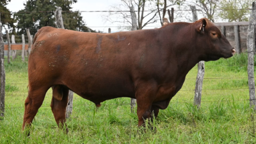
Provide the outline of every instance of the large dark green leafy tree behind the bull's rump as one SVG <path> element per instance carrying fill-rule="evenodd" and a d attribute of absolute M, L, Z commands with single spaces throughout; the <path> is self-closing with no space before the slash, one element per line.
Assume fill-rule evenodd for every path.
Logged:
<path fill-rule="evenodd" d="M 24 3 L 25 8 L 15 13 L 15 19 L 18 21 L 17 33 L 19 35 L 24 34 L 26 33 L 26 28 L 29 28 L 31 35 L 35 35 L 36 31 L 43 26 L 56 27 L 54 18 L 56 6 L 60 6 L 63 10 L 62 17 L 65 28 L 77 31 L 88 31 L 81 13 L 70 11 L 73 3 L 77 3 L 77 0 L 26 1 L 26 3 Z"/>

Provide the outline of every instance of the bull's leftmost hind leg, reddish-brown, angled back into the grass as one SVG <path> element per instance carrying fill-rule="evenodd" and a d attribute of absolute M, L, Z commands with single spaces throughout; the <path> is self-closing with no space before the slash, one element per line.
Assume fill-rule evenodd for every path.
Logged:
<path fill-rule="evenodd" d="M 35 115 L 42 106 L 44 101 L 45 93 L 47 92 L 48 88 L 37 88 L 33 89 L 29 87 L 28 97 L 25 100 L 25 112 L 23 118 L 23 125 L 22 130 L 25 130 L 25 127 L 28 127 L 28 136 L 29 136 L 29 127 L 35 118 Z"/>

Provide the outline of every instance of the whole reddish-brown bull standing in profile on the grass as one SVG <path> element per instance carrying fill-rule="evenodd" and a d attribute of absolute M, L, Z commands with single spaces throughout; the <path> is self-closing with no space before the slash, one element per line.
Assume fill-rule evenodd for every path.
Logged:
<path fill-rule="evenodd" d="M 110 34 L 44 27 L 29 56 L 23 128 L 51 87 L 58 88 L 51 104 L 58 124 L 65 122 L 67 90 L 72 90 L 98 106 L 117 97 L 137 99 L 140 126 L 167 108 L 196 63 L 232 53 L 225 36 L 207 19 Z"/>

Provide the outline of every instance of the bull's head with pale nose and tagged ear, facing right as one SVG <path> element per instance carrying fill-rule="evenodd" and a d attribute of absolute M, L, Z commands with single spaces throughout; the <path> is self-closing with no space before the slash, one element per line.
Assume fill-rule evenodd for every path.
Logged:
<path fill-rule="evenodd" d="M 235 54 L 236 50 L 212 22 L 204 18 L 197 20 L 195 24 L 196 32 L 200 35 L 197 37 L 196 47 L 202 47 L 204 51 L 202 60 L 219 60 L 220 58 L 230 58 Z"/>

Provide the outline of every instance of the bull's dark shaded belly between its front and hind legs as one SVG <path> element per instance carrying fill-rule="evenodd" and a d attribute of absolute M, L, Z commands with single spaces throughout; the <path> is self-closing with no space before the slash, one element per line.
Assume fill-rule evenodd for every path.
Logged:
<path fill-rule="evenodd" d="M 95 104 L 118 97 L 135 97 L 133 84 L 125 79 L 90 77 L 89 79 L 84 79 L 84 81 L 81 81 L 81 79 L 69 81 L 67 79 L 63 84 L 77 93 L 77 95 L 91 100 Z"/>

